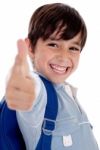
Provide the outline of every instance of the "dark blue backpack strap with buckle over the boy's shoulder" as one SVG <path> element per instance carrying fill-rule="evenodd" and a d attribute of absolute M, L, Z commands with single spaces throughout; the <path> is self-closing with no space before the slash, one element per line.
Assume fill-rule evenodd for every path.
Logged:
<path fill-rule="evenodd" d="M 47 105 L 42 124 L 42 131 L 36 150 L 51 150 L 52 132 L 58 113 L 58 99 L 52 83 L 41 77 L 47 91 Z"/>

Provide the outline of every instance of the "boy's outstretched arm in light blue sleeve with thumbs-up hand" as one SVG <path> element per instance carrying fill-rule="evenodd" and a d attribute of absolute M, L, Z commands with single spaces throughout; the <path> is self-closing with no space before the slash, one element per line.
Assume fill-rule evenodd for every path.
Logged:
<path fill-rule="evenodd" d="M 36 146 L 46 106 L 46 90 L 39 76 L 30 74 L 27 46 L 18 41 L 18 54 L 6 86 L 6 102 L 15 110 L 27 149 Z M 33 148 L 35 149 L 35 148 Z"/>

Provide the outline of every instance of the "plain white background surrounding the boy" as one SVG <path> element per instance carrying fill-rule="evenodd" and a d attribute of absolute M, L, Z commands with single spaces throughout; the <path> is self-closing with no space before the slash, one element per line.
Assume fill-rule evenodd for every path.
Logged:
<path fill-rule="evenodd" d="M 16 41 L 27 36 L 33 11 L 56 0 L 0 0 L 0 99 L 5 92 L 6 76 L 17 53 Z M 88 39 L 79 68 L 68 81 L 78 87 L 78 99 L 94 126 L 100 145 L 100 5 L 99 0 L 61 0 L 75 7 L 83 16 Z"/>

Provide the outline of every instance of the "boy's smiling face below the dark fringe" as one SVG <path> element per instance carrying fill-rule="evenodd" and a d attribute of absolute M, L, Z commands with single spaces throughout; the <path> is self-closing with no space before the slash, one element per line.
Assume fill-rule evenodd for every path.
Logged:
<path fill-rule="evenodd" d="M 52 35 L 46 41 L 37 41 L 32 58 L 39 73 L 54 83 L 62 83 L 76 70 L 80 51 L 80 34 L 70 40 L 57 40 Z"/>

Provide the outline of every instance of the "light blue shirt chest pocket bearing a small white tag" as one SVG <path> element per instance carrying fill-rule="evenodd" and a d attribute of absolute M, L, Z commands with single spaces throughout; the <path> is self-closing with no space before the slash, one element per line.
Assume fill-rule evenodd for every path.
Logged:
<path fill-rule="evenodd" d="M 77 118 L 56 121 L 56 128 L 52 134 L 52 150 L 82 150 L 79 140 L 80 126 Z"/>

